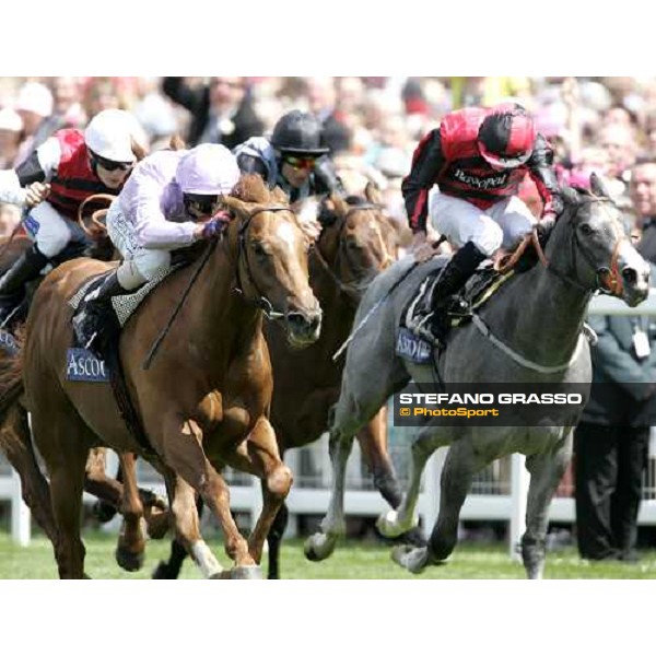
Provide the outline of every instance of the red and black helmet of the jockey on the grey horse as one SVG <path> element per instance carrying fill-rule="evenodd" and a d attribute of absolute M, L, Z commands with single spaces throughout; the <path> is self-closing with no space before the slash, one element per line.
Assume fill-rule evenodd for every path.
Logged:
<path fill-rule="evenodd" d="M 514 103 L 491 109 L 479 129 L 479 151 L 494 168 L 522 166 L 532 154 L 535 142 L 532 117 Z"/>

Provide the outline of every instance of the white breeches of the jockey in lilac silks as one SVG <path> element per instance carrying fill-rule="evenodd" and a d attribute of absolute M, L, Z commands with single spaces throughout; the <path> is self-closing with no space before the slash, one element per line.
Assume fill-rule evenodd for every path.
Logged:
<path fill-rule="evenodd" d="M 125 290 L 136 290 L 155 278 L 160 271 L 168 269 L 171 253 L 139 246 L 134 225 L 125 218 L 118 200 L 112 203 L 107 212 L 107 232 L 124 257 L 116 276 Z"/>

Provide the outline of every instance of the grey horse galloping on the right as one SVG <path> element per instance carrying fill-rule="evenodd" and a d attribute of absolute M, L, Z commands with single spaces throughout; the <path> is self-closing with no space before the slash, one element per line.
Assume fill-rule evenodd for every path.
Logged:
<path fill-rule="evenodd" d="M 548 266 L 513 277 L 482 307 L 480 320 L 454 330 L 436 363 L 445 383 L 591 382 L 589 347 L 583 337 L 591 295 L 604 290 L 635 306 L 648 294 L 649 267 L 633 248 L 618 208 L 595 175 L 590 187 L 591 192 L 563 189 L 565 207 L 546 248 Z M 311 560 L 329 557 L 344 532 L 344 470 L 355 432 L 411 379 L 420 385 L 434 382 L 432 365 L 400 359 L 395 343 L 401 313 L 436 266 L 400 260 L 374 281 L 359 307 L 354 326 L 360 330 L 352 335 L 331 422 L 331 499 L 319 531 L 305 544 Z M 530 472 L 522 557 L 528 577 L 540 578 L 549 506 L 571 458 L 578 414 L 579 409 L 561 426 L 447 427 L 427 421 L 419 427 L 411 445 L 407 493 L 397 511 L 378 519 L 378 528 L 396 536 L 415 524 L 424 466 L 435 449 L 449 446 L 440 513 L 429 544 L 398 547 L 394 560 L 413 573 L 444 563 L 456 546 L 459 514 L 473 475 L 496 458 L 522 453 Z"/>

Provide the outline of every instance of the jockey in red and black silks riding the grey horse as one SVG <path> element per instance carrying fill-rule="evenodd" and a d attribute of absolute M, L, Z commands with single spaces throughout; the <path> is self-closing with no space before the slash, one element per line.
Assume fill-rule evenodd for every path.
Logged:
<path fill-rule="evenodd" d="M 560 211 L 552 164 L 553 151 L 536 132 L 532 117 L 512 103 L 454 112 L 422 139 L 401 187 L 410 227 L 425 233 L 430 214 L 458 250 L 438 279 L 422 285 L 406 318 L 411 330 L 438 344 L 444 330 L 442 313 L 435 311 L 484 259 L 501 247 L 513 248 L 532 231 L 536 220 L 517 197 L 527 173 L 544 203 L 543 216 Z M 430 194 L 435 185 L 438 192 Z"/>

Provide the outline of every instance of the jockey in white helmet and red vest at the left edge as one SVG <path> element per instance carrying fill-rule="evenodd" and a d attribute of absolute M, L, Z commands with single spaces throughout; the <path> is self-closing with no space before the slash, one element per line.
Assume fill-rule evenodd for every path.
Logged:
<path fill-rule="evenodd" d="M 46 266 L 79 257 L 90 246 L 78 209 L 94 194 L 122 188 L 137 161 L 137 129 L 133 116 L 107 109 L 84 131 L 59 130 L 15 169 L 0 171 L 0 202 L 24 208 L 24 227 L 34 242 L 0 278 L 0 328 L 22 318 L 25 285 Z"/>

